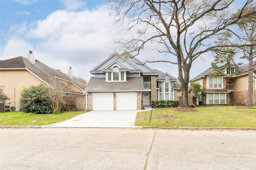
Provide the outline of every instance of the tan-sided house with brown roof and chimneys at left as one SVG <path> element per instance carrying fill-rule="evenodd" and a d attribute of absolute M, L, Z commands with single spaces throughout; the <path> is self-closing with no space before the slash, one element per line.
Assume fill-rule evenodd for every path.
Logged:
<path fill-rule="evenodd" d="M 20 92 L 24 87 L 39 84 L 49 85 L 49 81 L 60 80 L 63 83 L 63 96 L 68 107 L 86 109 L 85 84 L 72 79 L 72 69 L 66 75 L 34 60 L 32 51 L 27 58 L 16 57 L 0 61 L 0 85 L 5 86 L 4 93 L 11 99 L 6 106 L 19 105 Z M 71 109 L 71 108 L 70 108 Z"/>

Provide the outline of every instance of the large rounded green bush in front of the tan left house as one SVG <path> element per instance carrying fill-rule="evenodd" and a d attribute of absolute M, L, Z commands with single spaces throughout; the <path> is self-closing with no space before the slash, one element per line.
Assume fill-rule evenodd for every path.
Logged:
<path fill-rule="evenodd" d="M 20 92 L 20 106 L 26 113 L 52 113 L 46 87 L 43 84 L 24 88 Z"/>

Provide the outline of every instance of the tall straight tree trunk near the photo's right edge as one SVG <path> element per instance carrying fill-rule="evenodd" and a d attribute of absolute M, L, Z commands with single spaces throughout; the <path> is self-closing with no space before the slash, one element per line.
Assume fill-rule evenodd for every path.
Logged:
<path fill-rule="evenodd" d="M 247 94 L 246 106 L 253 106 L 252 94 L 253 94 L 253 57 L 252 57 L 252 48 L 251 48 L 251 53 L 249 55 L 248 94 Z"/>

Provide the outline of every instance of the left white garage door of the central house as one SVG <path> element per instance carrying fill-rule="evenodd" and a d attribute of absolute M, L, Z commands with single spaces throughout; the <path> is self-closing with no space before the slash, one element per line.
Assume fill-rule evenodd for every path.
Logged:
<path fill-rule="evenodd" d="M 114 110 L 113 93 L 92 93 L 93 110 Z"/>

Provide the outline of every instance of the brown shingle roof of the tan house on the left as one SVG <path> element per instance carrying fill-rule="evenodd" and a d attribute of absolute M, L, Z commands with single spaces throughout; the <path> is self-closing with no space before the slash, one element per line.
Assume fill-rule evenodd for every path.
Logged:
<path fill-rule="evenodd" d="M 86 87 L 85 84 L 78 82 L 74 79 L 71 79 L 69 76 L 67 76 L 63 72 L 50 68 L 49 66 L 45 65 L 44 63 L 41 63 L 38 60 L 35 60 L 35 64 L 33 64 L 30 61 L 28 61 L 25 57 L 20 56 L 20 57 L 15 57 L 12 59 L 0 61 L 0 69 L 22 69 L 22 68 L 30 70 L 34 75 L 38 76 L 44 82 L 47 82 L 49 77 L 51 78 L 58 77 L 58 78 L 62 78 L 64 80 L 72 82 L 73 84 L 78 86 L 78 88 L 80 88 L 81 90 L 83 90 Z"/>

